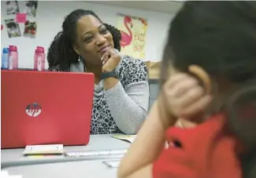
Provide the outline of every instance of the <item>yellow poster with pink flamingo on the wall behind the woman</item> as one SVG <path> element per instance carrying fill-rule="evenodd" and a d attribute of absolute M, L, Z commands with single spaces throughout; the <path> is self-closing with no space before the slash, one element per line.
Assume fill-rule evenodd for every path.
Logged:
<path fill-rule="evenodd" d="M 121 31 L 121 53 L 144 60 L 147 20 L 117 13 L 117 28 Z"/>

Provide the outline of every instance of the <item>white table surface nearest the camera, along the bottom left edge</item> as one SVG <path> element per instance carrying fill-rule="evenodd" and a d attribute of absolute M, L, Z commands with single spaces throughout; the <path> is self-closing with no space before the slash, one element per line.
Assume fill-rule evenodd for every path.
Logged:
<path fill-rule="evenodd" d="M 116 178 L 117 169 L 108 168 L 102 160 L 60 162 L 43 165 L 24 165 L 3 169 L 9 175 L 21 175 L 22 178 Z"/>

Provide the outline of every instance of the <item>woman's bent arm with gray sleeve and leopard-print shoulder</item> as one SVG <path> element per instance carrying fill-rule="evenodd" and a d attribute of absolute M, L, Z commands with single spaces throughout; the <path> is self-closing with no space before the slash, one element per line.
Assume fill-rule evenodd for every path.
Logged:
<path fill-rule="evenodd" d="M 123 60 L 121 70 L 126 70 L 127 76 L 123 78 L 127 85 L 123 87 L 116 78 L 107 78 L 104 81 L 105 95 L 110 113 L 118 128 L 123 133 L 135 134 L 147 117 L 150 95 L 147 67 L 141 60 Z"/>

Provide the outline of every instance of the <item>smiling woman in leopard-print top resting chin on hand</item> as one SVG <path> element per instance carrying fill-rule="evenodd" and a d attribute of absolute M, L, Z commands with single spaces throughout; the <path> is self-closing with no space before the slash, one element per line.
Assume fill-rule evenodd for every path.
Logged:
<path fill-rule="evenodd" d="M 120 40 L 117 28 L 90 10 L 76 9 L 48 50 L 49 71 L 95 74 L 91 134 L 134 134 L 147 115 L 146 64 L 119 53 Z"/>

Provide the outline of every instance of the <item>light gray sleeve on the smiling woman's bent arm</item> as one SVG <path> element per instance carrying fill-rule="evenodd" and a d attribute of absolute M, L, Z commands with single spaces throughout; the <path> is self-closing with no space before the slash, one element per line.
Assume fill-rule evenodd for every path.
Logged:
<path fill-rule="evenodd" d="M 125 134 L 135 134 L 147 117 L 149 85 L 146 81 L 133 82 L 125 87 L 118 82 L 105 91 L 110 113 Z"/>

